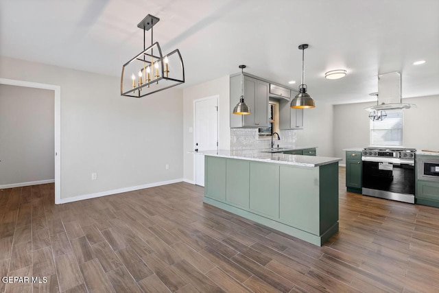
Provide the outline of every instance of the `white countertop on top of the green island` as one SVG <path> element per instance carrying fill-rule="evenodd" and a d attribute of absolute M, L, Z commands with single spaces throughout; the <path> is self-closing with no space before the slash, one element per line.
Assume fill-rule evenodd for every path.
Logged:
<path fill-rule="evenodd" d="M 301 150 L 301 149 L 294 149 Z M 340 162 L 340 158 L 330 158 L 327 156 L 299 156 L 296 154 L 281 154 L 260 152 L 260 150 L 204 150 L 198 152 L 205 156 L 219 156 L 222 158 L 241 159 L 248 161 L 259 161 L 265 163 L 278 163 L 285 165 L 295 165 L 302 167 L 318 167 L 335 162 Z"/>

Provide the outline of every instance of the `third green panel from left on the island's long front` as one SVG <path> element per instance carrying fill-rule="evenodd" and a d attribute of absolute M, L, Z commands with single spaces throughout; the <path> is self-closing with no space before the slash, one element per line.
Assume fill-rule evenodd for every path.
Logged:
<path fill-rule="evenodd" d="M 250 210 L 279 218 L 279 165 L 250 161 Z"/>

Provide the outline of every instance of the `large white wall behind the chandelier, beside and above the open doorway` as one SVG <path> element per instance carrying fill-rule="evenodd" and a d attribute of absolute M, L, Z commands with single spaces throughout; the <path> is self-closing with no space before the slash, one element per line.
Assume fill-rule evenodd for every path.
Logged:
<path fill-rule="evenodd" d="M 5 57 L 0 77 L 61 87 L 61 198 L 182 178 L 178 87 L 121 97 L 120 78 Z"/>

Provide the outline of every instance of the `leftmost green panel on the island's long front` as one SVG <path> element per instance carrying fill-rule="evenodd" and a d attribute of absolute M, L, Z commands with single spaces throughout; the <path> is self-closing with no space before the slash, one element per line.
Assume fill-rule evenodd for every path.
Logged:
<path fill-rule="evenodd" d="M 226 160 L 204 156 L 204 196 L 226 201 Z"/>

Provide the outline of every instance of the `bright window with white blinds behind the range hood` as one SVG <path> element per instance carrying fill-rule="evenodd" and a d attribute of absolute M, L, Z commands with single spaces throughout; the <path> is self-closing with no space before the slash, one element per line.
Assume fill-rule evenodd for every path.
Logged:
<path fill-rule="evenodd" d="M 403 145 L 403 112 L 388 111 L 383 121 L 370 121 L 370 145 Z"/>

